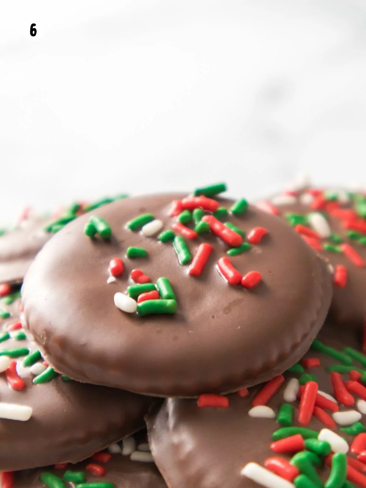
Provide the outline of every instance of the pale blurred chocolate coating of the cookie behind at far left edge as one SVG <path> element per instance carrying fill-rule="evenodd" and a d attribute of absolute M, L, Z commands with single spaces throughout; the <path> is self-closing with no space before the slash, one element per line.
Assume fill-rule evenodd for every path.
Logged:
<path fill-rule="evenodd" d="M 0 236 L 0 283 L 20 283 L 36 254 L 52 237 L 49 218 L 30 217 Z"/>

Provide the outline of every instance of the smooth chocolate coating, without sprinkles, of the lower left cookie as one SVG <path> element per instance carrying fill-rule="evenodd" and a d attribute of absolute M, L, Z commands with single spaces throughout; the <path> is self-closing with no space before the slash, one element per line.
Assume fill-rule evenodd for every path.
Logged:
<path fill-rule="evenodd" d="M 2 332 L 19 320 L 16 305 L 11 305 L 13 316 L 2 321 Z M 0 343 L 0 351 L 15 347 L 36 348 L 28 339 Z M 65 382 L 61 376 L 34 385 L 30 368 L 22 366 L 23 357 L 14 361 L 26 388 L 11 389 L 0 373 L 0 402 L 29 406 L 33 413 L 26 422 L 0 419 L 0 470 L 75 463 L 143 426 L 151 397 Z"/>

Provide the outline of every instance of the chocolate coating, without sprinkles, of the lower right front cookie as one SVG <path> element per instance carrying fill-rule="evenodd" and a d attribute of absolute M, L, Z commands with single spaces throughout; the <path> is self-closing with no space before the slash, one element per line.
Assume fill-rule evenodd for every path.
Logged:
<path fill-rule="evenodd" d="M 353 331 L 338 330 L 334 324 L 327 324 L 319 336 L 325 345 L 342 350 L 345 346 L 360 349 L 360 339 Z M 329 373 L 325 367 L 340 364 L 324 353 L 310 349 L 305 357 L 319 358 L 321 367 L 306 369 L 315 374 L 319 390 L 334 396 Z M 362 367 L 356 361 L 354 364 Z M 342 375 L 346 381 L 348 374 Z M 285 373 L 289 378 L 300 377 L 299 374 Z M 286 403 L 283 392 L 286 383 L 267 403 L 276 415 L 279 407 Z M 264 466 L 268 457 L 281 456 L 290 460 L 290 455 L 277 454 L 270 449 L 272 433 L 283 427 L 276 419 L 251 418 L 248 411 L 251 400 L 262 386 L 249 389 L 249 394 L 241 398 L 231 394 L 228 408 L 200 408 L 192 399 L 168 398 L 161 409 L 148 416 L 148 436 L 151 452 L 163 477 L 170 488 L 258 488 L 258 484 L 240 474 L 244 466 L 254 461 Z M 357 400 L 357 397 L 355 398 Z M 294 405 L 292 426 L 297 422 L 299 401 Z M 341 411 L 356 409 L 339 405 Z M 331 415 L 332 412 L 327 411 Z M 366 417 L 360 420 L 366 425 Z M 320 431 L 325 426 L 314 416 L 307 428 Z M 350 445 L 354 436 L 345 434 L 338 427 L 332 429 Z M 351 457 L 355 455 L 348 453 Z M 319 476 L 325 481 L 329 468 L 316 468 Z"/>

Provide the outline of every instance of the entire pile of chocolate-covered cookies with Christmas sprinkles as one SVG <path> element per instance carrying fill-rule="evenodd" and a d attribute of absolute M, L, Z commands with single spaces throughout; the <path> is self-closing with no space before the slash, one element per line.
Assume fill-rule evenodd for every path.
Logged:
<path fill-rule="evenodd" d="M 224 191 L 0 236 L 0 488 L 366 488 L 366 196 Z"/>

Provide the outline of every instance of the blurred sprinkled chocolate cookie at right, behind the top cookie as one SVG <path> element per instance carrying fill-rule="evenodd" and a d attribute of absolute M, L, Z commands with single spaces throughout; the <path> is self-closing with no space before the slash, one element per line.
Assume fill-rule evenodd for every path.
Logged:
<path fill-rule="evenodd" d="M 259 203 L 280 215 L 322 256 L 333 272 L 332 320 L 366 323 L 366 196 L 305 188 Z"/>

